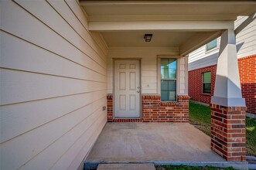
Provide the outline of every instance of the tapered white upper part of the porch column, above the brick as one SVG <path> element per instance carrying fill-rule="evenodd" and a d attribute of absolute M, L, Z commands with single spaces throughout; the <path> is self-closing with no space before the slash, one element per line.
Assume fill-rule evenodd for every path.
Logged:
<path fill-rule="evenodd" d="M 227 29 L 221 33 L 215 89 L 211 103 L 226 107 L 245 107 L 239 80 L 234 29 Z"/>

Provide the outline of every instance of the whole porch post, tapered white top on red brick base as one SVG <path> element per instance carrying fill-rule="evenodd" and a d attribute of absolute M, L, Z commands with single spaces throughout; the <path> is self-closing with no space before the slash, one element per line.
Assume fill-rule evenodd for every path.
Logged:
<path fill-rule="evenodd" d="M 237 65 L 234 29 L 221 33 L 214 95 L 211 98 L 211 149 L 227 161 L 245 161 L 245 100 Z"/>

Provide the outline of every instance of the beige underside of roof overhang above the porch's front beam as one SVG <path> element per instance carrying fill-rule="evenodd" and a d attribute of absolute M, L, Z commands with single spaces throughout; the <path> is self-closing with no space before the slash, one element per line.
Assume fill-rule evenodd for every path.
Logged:
<path fill-rule="evenodd" d="M 250 15 L 256 1 L 86 1 L 89 21 L 235 20 Z"/>

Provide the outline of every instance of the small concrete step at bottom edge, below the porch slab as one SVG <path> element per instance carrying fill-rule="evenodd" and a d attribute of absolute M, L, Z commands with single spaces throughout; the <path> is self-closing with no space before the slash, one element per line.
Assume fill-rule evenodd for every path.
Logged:
<path fill-rule="evenodd" d="M 97 170 L 155 170 L 154 164 L 99 164 Z"/>

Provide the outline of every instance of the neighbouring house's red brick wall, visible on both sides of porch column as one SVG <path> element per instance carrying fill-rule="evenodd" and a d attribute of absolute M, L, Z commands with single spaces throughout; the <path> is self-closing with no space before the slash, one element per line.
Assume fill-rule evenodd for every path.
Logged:
<path fill-rule="evenodd" d="M 238 59 L 242 96 L 245 98 L 247 112 L 256 114 L 256 55 Z M 189 96 L 192 100 L 210 104 L 213 96 L 217 65 L 207 66 L 189 71 Z M 203 94 L 202 73 L 210 71 L 212 74 L 212 91 L 210 95 Z"/>

